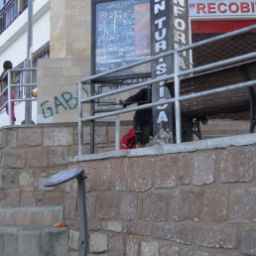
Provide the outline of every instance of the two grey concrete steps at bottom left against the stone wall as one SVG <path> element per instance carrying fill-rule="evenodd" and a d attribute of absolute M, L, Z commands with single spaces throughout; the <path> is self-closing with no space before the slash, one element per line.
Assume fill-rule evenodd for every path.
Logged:
<path fill-rule="evenodd" d="M 0 209 L 1 256 L 67 256 L 68 231 L 62 206 Z"/>

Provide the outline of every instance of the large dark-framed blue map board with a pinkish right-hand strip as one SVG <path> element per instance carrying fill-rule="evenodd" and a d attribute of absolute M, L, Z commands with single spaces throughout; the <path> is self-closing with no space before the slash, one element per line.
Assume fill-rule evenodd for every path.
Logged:
<path fill-rule="evenodd" d="M 92 73 L 108 71 L 151 56 L 150 0 L 92 2 Z M 150 64 L 111 76 L 145 77 Z"/>

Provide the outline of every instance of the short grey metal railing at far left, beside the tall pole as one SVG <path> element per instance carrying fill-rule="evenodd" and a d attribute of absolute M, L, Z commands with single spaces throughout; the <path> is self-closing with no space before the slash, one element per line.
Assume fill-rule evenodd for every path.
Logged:
<path fill-rule="evenodd" d="M 13 87 L 34 87 L 36 88 L 38 86 L 37 82 L 31 82 L 31 83 L 12 83 L 12 72 L 31 72 L 33 70 L 37 70 L 37 67 L 30 67 L 30 68 L 13 68 L 13 69 L 9 69 L 7 72 L 7 86 L 1 91 L 0 93 L 0 97 L 2 98 L 7 92 L 9 94 L 8 99 L 6 100 L 6 102 L 0 107 L 0 112 L 7 107 L 8 108 L 8 112 L 9 112 L 9 125 L 12 124 L 12 102 L 21 102 L 21 101 L 37 101 L 38 99 L 35 97 L 23 97 L 23 98 L 15 98 L 12 99 L 11 98 L 11 93 L 9 93 L 10 91 L 12 91 Z M 25 108 L 24 108 L 24 113 L 25 113 Z"/>

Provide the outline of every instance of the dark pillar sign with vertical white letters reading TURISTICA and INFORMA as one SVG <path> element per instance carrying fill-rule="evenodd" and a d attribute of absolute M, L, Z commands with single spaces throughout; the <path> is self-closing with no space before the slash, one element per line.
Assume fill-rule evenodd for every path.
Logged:
<path fill-rule="evenodd" d="M 190 43 L 188 1 L 152 1 L 152 56 L 164 54 Z M 179 68 L 188 69 L 190 54 L 179 56 Z M 163 77 L 174 72 L 174 57 L 160 58 L 152 64 L 152 77 Z M 174 87 L 161 81 L 152 87 L 152 101 L 174 97 Z M 153 108 L 154 137 L 157 144 L 175 142 L 174 105 L 163 104 Z"/>

